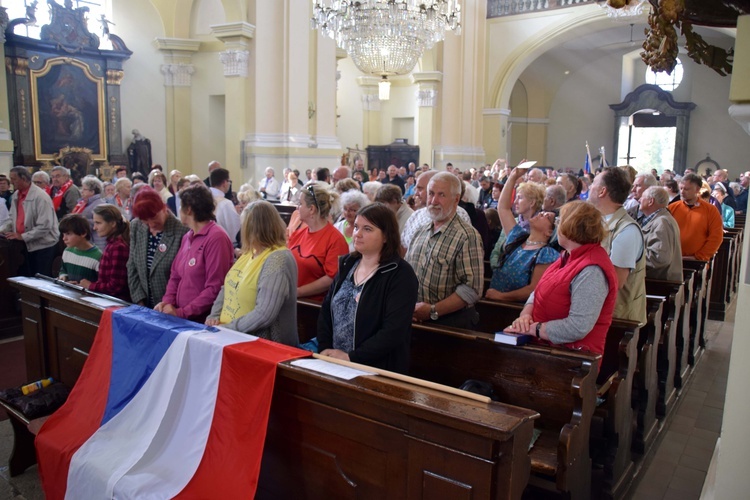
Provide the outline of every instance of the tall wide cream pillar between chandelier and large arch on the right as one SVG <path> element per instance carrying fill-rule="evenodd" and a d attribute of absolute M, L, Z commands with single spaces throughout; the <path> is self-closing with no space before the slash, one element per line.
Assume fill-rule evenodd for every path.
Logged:
<path fill-rule="evenodd" d="M 443 41 L 444 76 L 438 96 L 442 127 L 434 147 L 434 167 L 441 169 L 447 162 L 461 170 L 485 162 L 482 109 L 487 2 L 464 2 L 461 7 L 461 35 L 446 33 Z"/>

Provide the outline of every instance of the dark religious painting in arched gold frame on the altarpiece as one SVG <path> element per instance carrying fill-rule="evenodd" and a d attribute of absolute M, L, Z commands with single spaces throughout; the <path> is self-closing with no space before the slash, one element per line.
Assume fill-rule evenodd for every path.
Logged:
<path fill-rule="evenodd" d="M 75 147 L 106 160 L 104 78 L 70 57 L 48 59 L 30 73 L 36 159 L 51 160 L 62 148 Z"/>

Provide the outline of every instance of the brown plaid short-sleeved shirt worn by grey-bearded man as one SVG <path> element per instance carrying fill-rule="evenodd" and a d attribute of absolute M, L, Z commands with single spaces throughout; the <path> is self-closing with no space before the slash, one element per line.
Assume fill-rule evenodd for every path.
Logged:
<path fill-rule="evenodd" d="M 454 214 L 435 232 L 433 224 L 416 231 L 406 253 L 419 280 L 417 300 L 436 304 L 454 292 L 474 305 L 484 289 L 482 238 Z"/>

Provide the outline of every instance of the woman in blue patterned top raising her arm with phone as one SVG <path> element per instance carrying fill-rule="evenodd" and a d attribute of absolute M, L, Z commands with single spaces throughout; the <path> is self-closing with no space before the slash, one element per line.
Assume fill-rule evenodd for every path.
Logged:
<path fill-rule="evenodd" d="M 529 298 L 539 279 L 560 254 L 549 246 L 555 231 L 554 212 L 542 212 L 544 188 L 525 182 L 516 189 L 516 212 L 523 214 L 527 227 L 516 222 L 511 211 L 511 192 L 526 169 L 514 168 L 508 177 L 497 212 L 505 240 L 498 242 L 490 257 L 492 281 L 485 297 L 521 302 Z"/>

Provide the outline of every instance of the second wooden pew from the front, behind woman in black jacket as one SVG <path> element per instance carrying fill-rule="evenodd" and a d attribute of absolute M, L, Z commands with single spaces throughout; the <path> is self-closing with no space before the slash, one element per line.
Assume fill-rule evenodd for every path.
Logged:
<path fill-rule="evenodd" d="M 317 321 L 320 304 L 297 301 L 299 329 Z M 530 452 L 532 484 L 572 498 L 591 487 L 589 429 L 596 403 L 599 356 L 552 347 L 510 347 L 493 335 L 414 323 L 410 374 L 459 387 L 492 384 L 499 401 L 539 412 L 540 438 Z"/>

